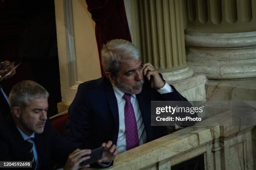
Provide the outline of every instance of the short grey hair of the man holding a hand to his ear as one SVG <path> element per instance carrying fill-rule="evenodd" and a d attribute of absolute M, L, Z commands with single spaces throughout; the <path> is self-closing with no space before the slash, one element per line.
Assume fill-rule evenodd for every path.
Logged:
<path fill-rule="evenodd" d="M 100 53 L 104 71 L 113 75 L 120 70 L 121 60 L 140 60 L 140 53 L 135 45 L 122 39 L 108 41 L 106 45 L 103 45 Z"/>

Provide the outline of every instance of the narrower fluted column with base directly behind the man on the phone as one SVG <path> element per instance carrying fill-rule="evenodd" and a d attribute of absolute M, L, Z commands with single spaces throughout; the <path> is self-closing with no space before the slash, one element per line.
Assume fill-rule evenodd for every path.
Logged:
<path fill-rule="evenodd" d="M 181 0 L 132 0 L 133 43 L 143 62 L 150 62 L 167 82 L 187 79 Z"/>

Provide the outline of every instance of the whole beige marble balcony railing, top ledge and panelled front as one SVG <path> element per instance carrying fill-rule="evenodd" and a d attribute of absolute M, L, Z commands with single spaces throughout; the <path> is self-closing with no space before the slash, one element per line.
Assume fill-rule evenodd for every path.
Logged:
<path fill-rule="evenodd" d="M 204 155 L 205 170 L 253 170 L 253 126 L 232 125 L 230 111 L 117 155 L 108 170 L 171 170 Z M 86 168 L 84 168 L 86 169 Z"/>

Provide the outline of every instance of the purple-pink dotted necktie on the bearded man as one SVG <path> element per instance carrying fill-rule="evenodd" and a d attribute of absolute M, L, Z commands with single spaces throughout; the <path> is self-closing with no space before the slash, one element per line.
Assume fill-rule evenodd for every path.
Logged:
<path fill-rule="evenodd" d="M 126 150 L 130 150 L 139 145 L 138 140 L 138 129 L 137 122 L 133 110 L 133 105 L 131 104 L 131 95 L 124 94 L 125 99 L 125 133 L 126 133 Z"/>

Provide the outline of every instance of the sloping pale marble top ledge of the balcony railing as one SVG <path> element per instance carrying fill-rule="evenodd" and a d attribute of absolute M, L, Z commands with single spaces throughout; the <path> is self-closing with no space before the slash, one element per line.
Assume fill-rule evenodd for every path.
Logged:
<path fill-rule="evenodd" d="M 212 140 L 212 133 L 209 128 L 190 129 L 189 131 L 193 131 L 193 133 L 189 134 L 188 131 L 173 133 L 121 153 L 117 156 L 113 167 L 108 169 L 138 170 Z"/>

